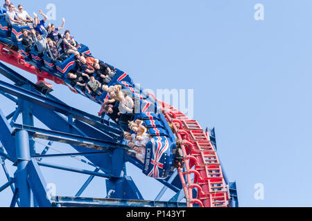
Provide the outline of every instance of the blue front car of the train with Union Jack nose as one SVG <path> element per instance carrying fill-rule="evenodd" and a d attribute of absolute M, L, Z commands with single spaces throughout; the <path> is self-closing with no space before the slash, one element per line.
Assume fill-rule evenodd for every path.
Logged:
<path fill-rule="evenodd" d="M 154 113 L 141 113 L 141 119 L 149 128 L 152 139 L 146 144 L 146 156 L 143 173 L 148 177 L 166 179 L 172 175 L 176 164 L 176 142 L 171 128 L 164 115 Z"/>

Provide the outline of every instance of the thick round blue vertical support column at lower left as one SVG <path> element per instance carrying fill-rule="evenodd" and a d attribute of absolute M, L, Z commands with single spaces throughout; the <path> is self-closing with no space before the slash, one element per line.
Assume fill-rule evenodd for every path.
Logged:
<path fill-rule="evenodd" d="M 31 160 L 29 152 L 29 137 L 27 131 L 17 131 L 16 153 L 17 153 L 17 188 L 19 189 L 19 200 L 21 207 L 31 206 L 31 189 L 27 182 L 27 164 Z"/>

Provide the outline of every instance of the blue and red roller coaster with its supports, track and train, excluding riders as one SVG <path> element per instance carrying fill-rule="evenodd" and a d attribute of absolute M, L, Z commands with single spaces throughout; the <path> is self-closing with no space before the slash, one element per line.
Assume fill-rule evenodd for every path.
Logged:
<path fill-rule="evenodd" d="M 98 117 L 53 97 L 52 84 L 67 86 L 71 92 L 103 105 L 109 99 L 105 91 L 91 96 L 72 86 L 68 73 L 77 70 L 74 55 L 57 61 L 48 52 L 40 55 L 36 48 L 31 50 L 17 41 L 21 30 L 29 26 L 10 26 L 0 17 L 0 60 L 37 75 L 37 84 L 21 76 L 3 63 L 0 73 L 13 82 L 0 81 L 0 93 L 17 104 L 10 115 L 0 109 L 0 162 L 8 182 L 0 186 L 0 192 L 10 187 L 10 206 L 163 206 L 163 207 L 236 207 L 239 206 L 236 183 L 229 182 L 218 158 L 214 129 L 204 130 L 200 124 L 173 106 L 157 100 L 146 93 L 127 73 L 110 64 L 114 77 L 108 86 L 121 85 L 123 90 L 139 104 L 139 112 L 133 114 L 141 119 L 151 136 L 146 144 L 144 164 L 131 153 L 123 138 L 125 125 L 113 122 L 110 117 Z M 92 57 L 84 44 L 78 43 L 78 52 Z M 22 115 L 22 124 L 16 124 Z M 33 117 L 40 120 L 49 130 L 37 128 Z M 35 143 L 47 140 L 46 148 L 37 153 Z M 69 144 L 77 153 L 47 154 L 53 142 Z M 51 157 L 83 156 L 83 162 L 94 166 L 94 171 L 74 169 L 46 162 Z M 17 167 L 14 175 L 8 173 L 6 161 Z M 80 160 L 82 161 L 82 160 Z M 114 163 L 113 163 L 114 162 Z M 144 200 L 132 177 L 125 175 L 125 163 L 130 162 L 141 169 L 150 179 L 164 185 L 154 201 Z M 48 189 L 41 167 L 89 175 L 75 196 L 47 197 Z M 94 177 L 106 179 L 107 197 L 103 199 L 80 198 Z M 159 201 L 166 189 L 176 194 L 167 202 Z M 31 203 L 31 198 L 33 202 Z"/>

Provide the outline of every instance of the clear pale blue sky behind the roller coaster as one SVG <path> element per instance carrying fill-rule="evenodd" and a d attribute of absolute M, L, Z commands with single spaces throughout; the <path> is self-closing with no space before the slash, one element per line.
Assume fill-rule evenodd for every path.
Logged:
<path fill-rule="evenodd" d="M 194 89 L 194 118 L 204 128 L 216 127 L 220 160 L 229 180 L 237 181 L 241 206 L 312 205 L 307 173 L 312 166 L 312 1 L 19 3 L 31 13 L 55 3 L 56 26 L 65 17 L 65 28 L 76 40 L 144 88 Z M 256 3 L 264 6 L 264 21 L 254 20 Z M 53 95 L 64 102 L 98 111 L 64 86 L 54 87 Z M 7 104 L 1 98 L 1 109 L 10 113 L 14 108 Z M 58 162 L 76 165 L 65 158 Z M 57 184 L 58 195 L 74 195 L 87 178 L 43 171 L 47 182 Z M 148 200 L 162 188 L 133 166 L 128 173 Z M 4 182 L 0 171 L 0 185 Z M 254 200 L 257 183 L 264 185 L 265 200 Z M 94 180 L 83 196 L 105 196 L 103 180 Z M 0 193 L 0 206 L 8 206 L 10 197 L 10 190 Z M 163 199 L 170 197 L 169 192 Z"/>

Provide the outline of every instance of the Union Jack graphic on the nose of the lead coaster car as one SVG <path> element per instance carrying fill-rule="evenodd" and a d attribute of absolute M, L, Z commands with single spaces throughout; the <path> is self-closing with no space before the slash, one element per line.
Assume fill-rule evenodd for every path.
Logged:
<path fill-rule="evenodd" d="M 151 140 L 153 144 L 153 156 L 155 159 L 151 159 L 150 163 L 153 165 L 153 169 L 148 173 L 149 177 L 154 177 L 154 178 L 160 178 L 161 176 L 159 175 L 159 169 L 164 169 L 164 164 L 160 163 L 159 160 L 162 159 L 162 155 L 166 153 L 166 151 L 169 148 L 168 140 L 163 143 L 162 142 L 162 137 L 157 137 L 157 140 L 152 139 Z"/>

